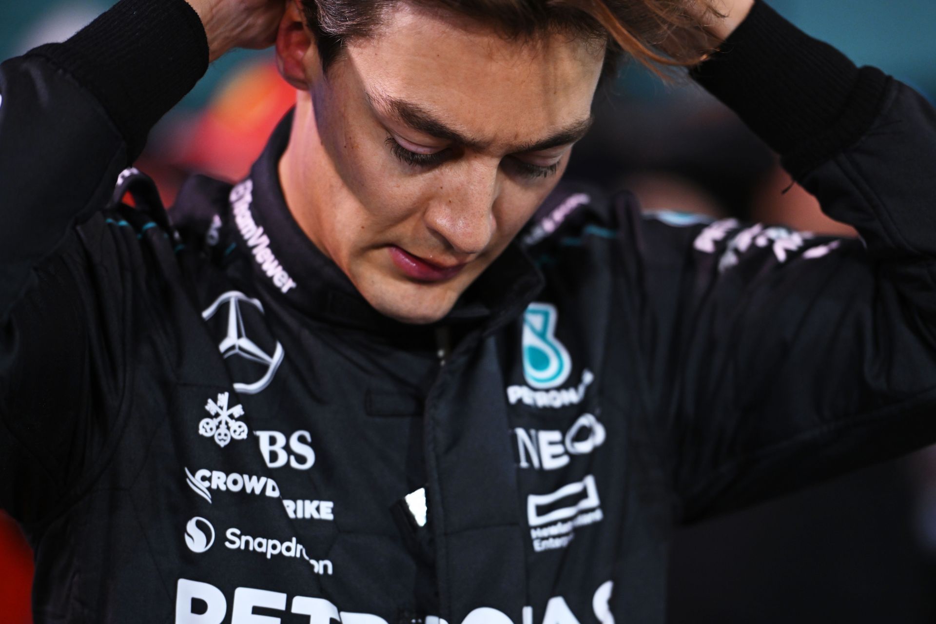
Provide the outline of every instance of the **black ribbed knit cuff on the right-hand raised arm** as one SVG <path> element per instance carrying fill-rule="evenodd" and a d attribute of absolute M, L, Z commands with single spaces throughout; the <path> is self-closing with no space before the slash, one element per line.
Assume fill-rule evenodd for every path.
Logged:
<path fill-rule="evenodd" d="M 873 67 L 859 69 L 761 0 L 692 75 L 780 153 L 795 178 L 868 130 L 890 81 Z"/>

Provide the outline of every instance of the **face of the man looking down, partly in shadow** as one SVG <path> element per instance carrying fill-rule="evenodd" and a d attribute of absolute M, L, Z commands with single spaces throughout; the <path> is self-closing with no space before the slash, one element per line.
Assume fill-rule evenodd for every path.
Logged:
<path fill-rule="evenodd" d="M 376 310 L 438 320 L 556 185 L 603 58 L 401 3 L 327 75 L 302 57 L 286 202 Z"/>

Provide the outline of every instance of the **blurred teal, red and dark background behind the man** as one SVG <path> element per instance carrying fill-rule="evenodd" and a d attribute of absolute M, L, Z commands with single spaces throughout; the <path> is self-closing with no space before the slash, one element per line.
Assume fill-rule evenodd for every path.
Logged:
<path fill-rule="evenodd" d="M 61 41 L 113 4 L 0 3 L 0 58 Z M 859 65 L 936 94 L 933 0 L 772 0 Z M 271 51 L 234 51 L 160 122 L 137 166 L 167 205 L 191 172 L 237 180 L 292 104 Z M 569 178 L 629 188 L 649 209 L 851 236 L 791 185 L 729 110 L 687 80 L 664 85 L 625 66 L 595 103 Z M 936 414 L 934 414 L 936 417 Z M 32 552 L 0 512 L 0 622 L 31 621 Z M 680 530 L 671 561 L 672 624 L 936 624 L 936 451 L 889 462 Z"/>

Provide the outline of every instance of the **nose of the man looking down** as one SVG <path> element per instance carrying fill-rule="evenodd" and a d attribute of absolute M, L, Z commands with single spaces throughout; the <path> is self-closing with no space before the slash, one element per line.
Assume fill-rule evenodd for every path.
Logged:
<path fill-rule="evenodd" d="M 490 244 L 498 187 L 496 167 L 478 165 L 461 180 L 446 180 L 433 194 L 424 213 L 426 225 L 461 260 L 480 254 Z"/>

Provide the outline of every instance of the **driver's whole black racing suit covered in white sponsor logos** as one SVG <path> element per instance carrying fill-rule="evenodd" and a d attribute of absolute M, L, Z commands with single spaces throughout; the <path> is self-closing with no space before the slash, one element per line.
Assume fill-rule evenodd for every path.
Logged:
<path fill-rule="evenodd" d="M 431 327 L 292 220 L 289 118 L 233 187 L 113 193 L 206 65 L 182 0 L 124 0 L 0 70 L 38 622 L 662 623 L 680 522 L 936 440 L 936 115 L 763 4 L 695 76 L 861 239 L 563 186 Z"/>

